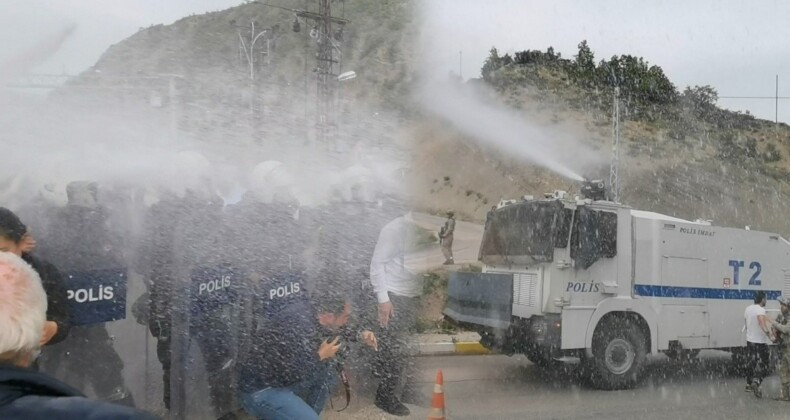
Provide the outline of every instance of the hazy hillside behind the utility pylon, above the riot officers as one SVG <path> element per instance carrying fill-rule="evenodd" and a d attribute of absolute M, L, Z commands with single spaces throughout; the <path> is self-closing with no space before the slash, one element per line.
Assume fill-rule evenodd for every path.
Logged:
<path fill-rule="evenodd" d="M 306 4 L 270 3 L 299 10 Z M 316 11 L 314 2 L 307 4 L 308 11 Z M 407 51 L 417 30 L 412 10 L 411 0 L 334 4 L 333 15 L 350 21 L 337 41 L 343 54 L 340 70 L 354 70 L 358 75 L 339 91 L 341 135 L 358 140 L 372 130 L 395 132 L 389 120 L 373 114 L 406 109 L 414 58 Z M 122 96 L 126 105 L 150 108 L 157 103 L 165 111 L 175 107 L 180 130 L 202 140 L 305 142 L 316 119 L 317 44 L 310 35 L 313 23 L 300 19 L 300 31 L 294 32 L 294 17 L 282 8 L 244 2 L 170 25 L 140 28 L 111 46 L 95 66 L 70 84 L 71 91 L 80 95 L 87 91 L 98 103 L 115 104 Z M 240 48 L 240 37 L 249 45 L 253 22 L 256 34 L 263 29 L 272 34 L 255 44 L 254 81 Z M 76 89 L 84 86 L 108 89 Z M 364 130 L 356 130 L 359 127 Z"/>

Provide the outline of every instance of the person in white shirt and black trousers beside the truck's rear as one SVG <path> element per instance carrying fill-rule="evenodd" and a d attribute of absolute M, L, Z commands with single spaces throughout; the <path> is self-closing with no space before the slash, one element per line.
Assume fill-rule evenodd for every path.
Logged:
<path fill-rule="evenodd" d="M 765 315 L 765 293 L 758 291 L 754 295 L 754 304 L 744 312 L 746 323 L 746 391 L 753 391 L 757 398 L 762 398 L 760 384 L 768 371 L 768 344 L 773 341 L 771 321 Z"/>

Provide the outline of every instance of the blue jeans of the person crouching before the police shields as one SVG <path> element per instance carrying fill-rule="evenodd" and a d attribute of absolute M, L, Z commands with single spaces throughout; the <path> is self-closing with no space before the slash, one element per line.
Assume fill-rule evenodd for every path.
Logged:
<path fill-rule="evenodd" d="M 321 363 L 310 377 L 292 386 L 241 394 L 241 404 L 258 419 L 318 420 L 338 376 L 334 363 Z"/>

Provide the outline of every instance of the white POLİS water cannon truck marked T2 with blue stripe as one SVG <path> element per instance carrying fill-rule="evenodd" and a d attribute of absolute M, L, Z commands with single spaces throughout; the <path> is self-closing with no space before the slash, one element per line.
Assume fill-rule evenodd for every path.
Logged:
<path fill-rule="evenodd" d="M 558 197 L 562 198 L 558 198 Z M 790 294 L 790 243 L 605 201 L 603 182 L 504 205 L 486 224 L 482 273 L 451 273 L 445 314 L 481 343 L 537 365 L 579 358 L 593 384 L 638 383 L 648 354 L 743 357 L 743 314 Z"/>

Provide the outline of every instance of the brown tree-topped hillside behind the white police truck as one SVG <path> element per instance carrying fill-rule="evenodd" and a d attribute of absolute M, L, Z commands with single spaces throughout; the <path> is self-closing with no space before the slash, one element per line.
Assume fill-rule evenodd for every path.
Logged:
<path fill-rule="evenodd" d="M 492 56 L 495 54 L 492 51 Z M 482 83 L 496 100 L 518 109 L 525 117 L 573 133 L 582 143 L 608 156 L 612 139 L 612 101 L 608 98 L 612 91 L 574 81 L 569 73 L 575 60 L 554 57 L 551 61 L 521 63 L 506 58 L 496 68 L 488 66 L 489 59 L 483 67 Z M 783 211 L 790 202 L 790 127 L 720 109 L 715 106 L 715 90 L 713 98 L 703 104 L 690 101 L 706 89 L 710 87 L 676 92 L 674 98 L 653 106 L 632 101 L 633 108 L 641 106 L 641 113 L 628 113 L 624 105 L 620 157 L 623 201 L 692 220 L 750 225 L 790 236 L 790 221 Z M 627 99 L 623 102 L 628 103 Z M 415 163 L 415 172 L 423 178 L 415 186 L 429 197 L 431 208 L 461 208 L 467 217 L 482 220 L 490 204 L 500 198 L 569 189 L 567 180 L 509 161 L 505 154 L 483 151 L 449 127 L 425 124 L 416 132 L 434 140 L 416 143 L 422 145 L 421 155 L 440 156 L 437 162 L 417 159 Z M 525 147 L 528 143 L 525 140 Z M 474 169 L 461 172 L 457 168 Z M 606 180 L 608 175 L 607 166 L 589 174 Z"/>

